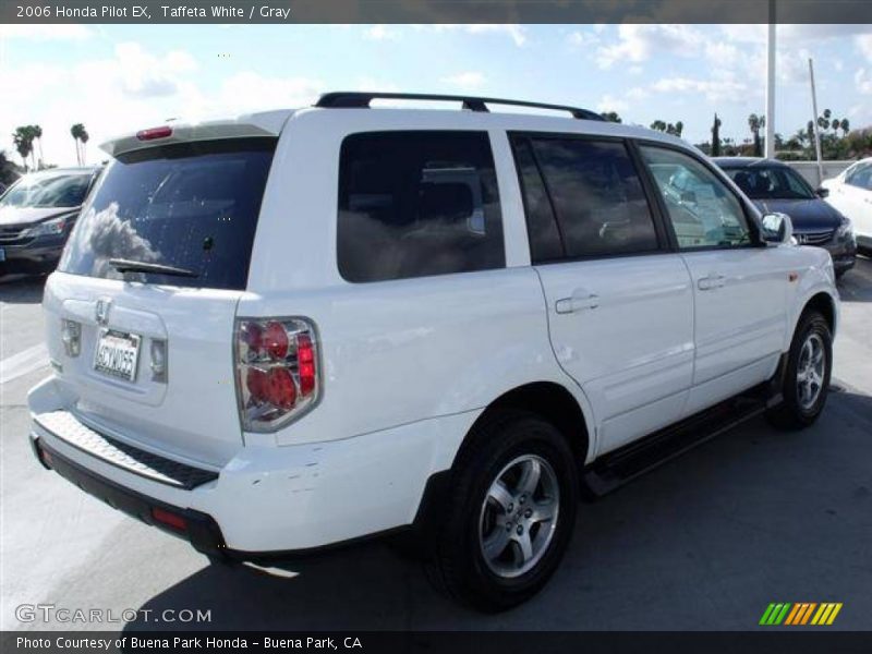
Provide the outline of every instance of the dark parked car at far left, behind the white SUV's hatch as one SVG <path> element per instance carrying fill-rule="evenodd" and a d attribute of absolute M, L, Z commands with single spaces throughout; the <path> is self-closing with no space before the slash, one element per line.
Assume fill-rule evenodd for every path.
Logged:
<path fill-rule="evenodd" d="M 98 168 L 34 172 L 0 196 L 0 275 L 55 269 L 98 172 Z"/>

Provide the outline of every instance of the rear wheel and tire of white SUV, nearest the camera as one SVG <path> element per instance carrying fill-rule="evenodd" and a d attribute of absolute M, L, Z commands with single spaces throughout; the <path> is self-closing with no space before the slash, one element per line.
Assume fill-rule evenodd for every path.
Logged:
<path fill-rule="evenodd" d="M 535 595 L 566 552 L 578 506 L 576 458 L 537 415 L 494 412 L 473 427 L 445 500 L 427 577 L 456 601 L 506 610 Z"/>

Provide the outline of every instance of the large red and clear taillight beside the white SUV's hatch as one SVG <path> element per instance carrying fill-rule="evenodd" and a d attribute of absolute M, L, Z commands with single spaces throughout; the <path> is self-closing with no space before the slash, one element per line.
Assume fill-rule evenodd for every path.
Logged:
<path fill-rule="evenodd" d="M 237 320 L 237 396 L 245 431 L 272 432 L 315 405 L 316 344 L 315 326 L 305 318 Z"/>

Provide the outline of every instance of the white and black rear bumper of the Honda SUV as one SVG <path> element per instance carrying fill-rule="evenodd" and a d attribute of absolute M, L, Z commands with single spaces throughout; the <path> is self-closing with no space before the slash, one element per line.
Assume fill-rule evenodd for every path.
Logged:
<path fill-rule="evenodd" d="M 49 452 L 44 463 L 149 524 L 156 524 L 155 507 L 190 519 L 201 525 L 196 541 L 168 531 L 201 552 L 239 558 L 308 553 L 414 524 L 428 480 L 450 468 L 479 415 L 425 420 L 342 440 L 240 447 L 214 479 L 184 487 L 47 429 L 40 415 L 69 411 L 52 395 L 52 378 L 32 391 L 29 402 L 36 449 Z"/>

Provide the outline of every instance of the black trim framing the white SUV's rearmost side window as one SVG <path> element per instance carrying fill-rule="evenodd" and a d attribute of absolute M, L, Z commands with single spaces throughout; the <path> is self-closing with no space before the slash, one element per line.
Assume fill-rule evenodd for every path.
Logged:
<path fill-rule="evenodd" d="M 355 280 L 355 279 L 348 279 L 342 274 L 342 268 L 339 265 L 339 198 L 342 194 L 342 152 L 346 147 L 346 141 L 354 136 L 363 136 L 363 135 L 377 135 L 377 134 L 420 134 L 420 133 L 443 133 L 443 134 L 475 134 L 479 136 L 484 136 L 485 142 L 487 144 L 487 150 L 491 155 L 491 164 L 494 169 L 494 182 L 496 184 L 496 197 L 497 203 L 499 205 L 499 223 L 502 237 L 502 265 L 495 267 L 495 268 L 482 268 L 480 270 L 456 270 L 453 272 L 436 272 L 433 275 L 421 275 L 415 277 L 397 277 L 391 279 L 373 279 L 373 280 Z M 482 275 L 494 272 L 496 270 L 506 270 L 509 268 L 509 250 L 508 250 L 508 242 L 506 239 L 506 213 L 505 213 L 505 203 L 502 202 L 502 192 L 500 191 L 499 186 L 499 170 L 497 167 L 497 156 L 495 154 L 494 148 L 494 138 L 491 130 L 482 130 L 481 128 L 401 128 L 401 129 L 384 129 L 384 128 L 374 128 L 374 129 L 362 129 L 355 130 L 353 132 L 347 132 L 342 135 L 341 141 L 339 142 L 339 149 L 336 155 L 337 161 L 337 172 L 336 172 L 336 240 L 334 243 L 334 263 L 336 266 L 336 272 L 339 275 L 339 279 L 341 279 L 344 283 L 353 284 L 353 286 L 365 286 L 365 284 L 377 284 L 377 283 L 402 283 L 402 282 L 414 282 L 416 280 L 422 279 L 438 279 L 438 278 L 446 278 L 446 277 L 453 277 L 456 275 Z"/>

